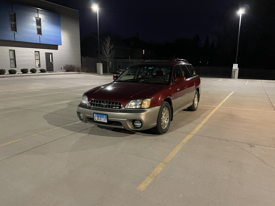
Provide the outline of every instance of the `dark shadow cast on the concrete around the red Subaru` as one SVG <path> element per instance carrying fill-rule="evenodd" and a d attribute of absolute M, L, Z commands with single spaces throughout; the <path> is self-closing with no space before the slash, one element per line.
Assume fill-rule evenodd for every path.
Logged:
<path fill-rule="evenodd" d="M 138 136 L 142 136 L 140 138 L 150 137 L 150 136 L 160 136 L 160 135 L 154 134 L 151 131 L 151 129 L 142 130 L 142 131 L 128 131 L 126 129 L 96 126 L 94 124 L 79 122 L 80 120 L 76 115 L 76 108 L 79 102 L 71 101 L 66 104 L 67 106 L 65 108 L 63 107 L 61 109 L 51 111 L 43 116 L 44 119 L 48 122 L 48 124 L 51 124 L 55 127 L 62 127 L 63 129 L 66 129 L 69 131 L 83 133 L 83 134 L 91 134 L 96 136 L 107 136 L 107 137 L 135 136 L 135 138 L 138 138 Z M 173 121 L 170 124 L 169 131 L 167 131 L 167 133 L 163 135 L 169 134 L 181 127 L 185 127 L 187 124 L 190 124 L 191 122 L 196 121 L 197 118 L 200 117 L 202 112 L 205 112 L 205 111 L 202 111 L 201 108 L 198 108 L 198 110 L 195 112 L 190 112 L 187 110 L 182 110 L 181 112 L 178 112 L 178 114 L 173 118 Z M 68 124 L 72 124 L 72 125 L 68 125 Z M 64 126 L 64 125 L 68 125 L 68 126 Z"/>

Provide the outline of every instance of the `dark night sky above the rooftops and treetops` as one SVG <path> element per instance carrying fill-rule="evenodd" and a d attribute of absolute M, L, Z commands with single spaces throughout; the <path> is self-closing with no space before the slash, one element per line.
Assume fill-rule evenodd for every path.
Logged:
<path fill-rule="evenodd" d="M 88 32 L 97 33 L 97 13 L 91 9 L 94 3 L 99 6 L 99 33 L 111 32 L 128 38 L 139 32 L 140 39 L 154 43 L 193 38 L 196 34 L 202 43 L 207 35 L 210 42 L 214 41 L 211 33 L 216 24 L 214 16 L 224 12 L 228 4 L 221 0 L 48 1 L 79 11 L 80 37 Z M 239 17 L 236 15 L 236 18 Z"/>

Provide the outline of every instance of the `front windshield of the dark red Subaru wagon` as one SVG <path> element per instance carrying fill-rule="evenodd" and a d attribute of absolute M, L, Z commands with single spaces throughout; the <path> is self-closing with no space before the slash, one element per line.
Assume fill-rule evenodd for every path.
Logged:
<path fill-rule="evenodd" d="M 171 67 L 162 65 L 138 65 L 126 69 L 116 81 L 169 84 Z"/>

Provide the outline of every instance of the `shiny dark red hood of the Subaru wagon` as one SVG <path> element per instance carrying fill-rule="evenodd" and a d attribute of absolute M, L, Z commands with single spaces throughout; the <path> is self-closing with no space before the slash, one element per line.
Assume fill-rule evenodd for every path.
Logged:
<path fill-rule="evenodd" d="M 158 92 L 161 87 L 167 85 L 148 84 L 138 82 L 112 82 L 106 85 L 90 89 L 85 92 L 88 101 L 91 99 L 105 101 L 119 101 L 123 106 L 132 99 L 152 98 L 152 94 Z"/>

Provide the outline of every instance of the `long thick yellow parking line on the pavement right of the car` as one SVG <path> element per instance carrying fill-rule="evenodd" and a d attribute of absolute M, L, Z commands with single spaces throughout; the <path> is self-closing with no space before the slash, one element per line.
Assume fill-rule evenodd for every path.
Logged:
<path fill-rule="evenodd" d="M 233 94 L 234 92 L 231 92 L 231 94 Z M 140 184 L 140 186 L 137 187 L 137 189 L 143 191 L 147 188 L 147 186 L 154 180 L 154 178 L 161 172 L 161 170 L 165 167 L 165 165 L 170 162 L 170 160 L 176 155 L 176 153 L 181 149 L 181 147 L 188 142 L 188 140 L 191 139 L 191 137 L 193 137 L 197 131 L 202 127 L 202 125 L 205 124 L 205 122 L 207 122 L 207 120 L 209 120 L 209 118 L 214 114 L 214 112 L 216 112 L 217 109 L 219 109 L 221 107 L 221 105 L 231 96 L 231 94 L 229 94 L 224 101 L 222 101 L 218 106 L 216 106 L 216 108 L 214 108 L 214 110 L 212 112 L 210 112 L 210 114 L 190 133 L 188 134 L 187 137 L 185 137 L 183 139 L 183 141 L 181 143 L 178 144 L 178 146 L 176 146 L 173 151 L 164 158 L 164 160 L 162 160 L 162 162 L 154 169 L 153 172 L 151 172 L 151 174 Z"/>

